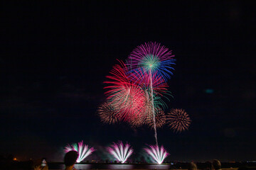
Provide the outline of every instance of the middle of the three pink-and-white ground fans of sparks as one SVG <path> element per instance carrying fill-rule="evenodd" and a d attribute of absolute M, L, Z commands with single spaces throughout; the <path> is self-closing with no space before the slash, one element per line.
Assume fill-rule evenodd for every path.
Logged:
<path fill-rule="evenodd" d="M 119 162 L 122 162 L 122 164 L 127 161 L 133 152 L 132 147 L 128 143 L 124 146 L 122 141 L 119 141 L 118 143 L 113 142 L 113 145 L 107 149 L 110 154 L 112 154 Z"/>

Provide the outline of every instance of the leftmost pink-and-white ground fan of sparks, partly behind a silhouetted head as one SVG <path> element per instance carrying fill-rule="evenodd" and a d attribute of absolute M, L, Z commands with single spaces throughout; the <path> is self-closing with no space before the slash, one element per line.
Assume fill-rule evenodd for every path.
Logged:
<path fill-rule="evenodd" d="M 88 145 L 83 145 L 82 142 L 78 142 L 78 145 L 75 143 L 73 145 L 68 145 L 65 147 L 65 152 L 69 152 L 70 150 L 75 150 L 76 152 L 79 153 L 79 157 L 76 162 L 82 162 L 83 159 L 88 157 L 92 152 L 95 152 L 96 149 L 93 147 L 89 148 Z"/>

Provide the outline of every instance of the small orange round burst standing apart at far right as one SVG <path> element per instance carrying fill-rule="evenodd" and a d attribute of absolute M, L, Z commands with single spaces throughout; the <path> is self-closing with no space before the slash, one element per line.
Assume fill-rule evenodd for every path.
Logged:
<path fill-rule="evenodd" d="M 191 124 L 191 118 L 188 117 L 183 109 L 171 109 L 171 112 L 166 115 L 167 123 L 174 132 L 188 130 Z"/>

